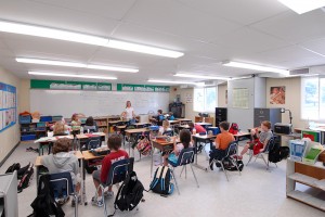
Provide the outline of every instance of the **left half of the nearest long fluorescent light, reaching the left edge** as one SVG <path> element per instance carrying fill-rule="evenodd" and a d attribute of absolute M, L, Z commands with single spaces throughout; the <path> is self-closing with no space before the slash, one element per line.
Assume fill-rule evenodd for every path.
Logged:
<path fill-rule="evenodd" d="M 94 46 L 104 46 L 108 42 L 108 39 L 102 37 L 6 21 L 0 21 L 0 31 L 38 36 L 79 43 L 89 43 Z"/>

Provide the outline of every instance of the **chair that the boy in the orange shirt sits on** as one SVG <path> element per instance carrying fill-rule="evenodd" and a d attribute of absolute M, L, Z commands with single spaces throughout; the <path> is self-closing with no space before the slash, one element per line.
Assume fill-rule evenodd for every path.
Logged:
<path fill-rule="evenodd" d="M 239 176 L 242 175 L 240 170 L 238 168 L 238 165 L 236 163 L 236 159 L 233 157 L 234 155 L 237 154 L 237 150 L 238 150 L 237 146 L 238 146 L 237 141 L 231 142 L 229 144 L 229 146 L 226 148 L 226 150 L 225 150 L 225 155 L 221 158 L 213 158 L 210 162 L 210 165 L 209 165 L 209 166 L 211 166 L 211 164 L 213 164 L 213 163 L 220 164 L 227 181 L 229 181 L 229 177 L 227 177 L 227 174 L 226 174 L 226 169 L 224 169 L 224 163 L 225 162 L 230 163 L 232 166 L 235 166 L 237 168 L 238 173 L 239 173 Z"/>

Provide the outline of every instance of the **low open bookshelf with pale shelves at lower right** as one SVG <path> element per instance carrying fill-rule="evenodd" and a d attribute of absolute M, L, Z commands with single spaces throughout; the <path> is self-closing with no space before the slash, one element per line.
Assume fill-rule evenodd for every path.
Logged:
<path fill-rule="evenodd" d="M 286 195 L 325 212 L 325 200 L 296 189 L 296 182 L 325 191 L 325 167 L 320 162 L 314 165 L 287 159 Z"/>

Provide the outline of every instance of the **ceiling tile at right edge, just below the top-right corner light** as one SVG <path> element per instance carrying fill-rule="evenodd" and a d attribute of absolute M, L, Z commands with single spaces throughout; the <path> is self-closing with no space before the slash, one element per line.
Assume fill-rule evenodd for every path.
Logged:
<path fill-rule="evenodd" d="M 251 27 L 297 43 L 322 38 L 325 35 L 325 12 L 315 10 L 304 14 L 292 11 L 253 24 Z"/>

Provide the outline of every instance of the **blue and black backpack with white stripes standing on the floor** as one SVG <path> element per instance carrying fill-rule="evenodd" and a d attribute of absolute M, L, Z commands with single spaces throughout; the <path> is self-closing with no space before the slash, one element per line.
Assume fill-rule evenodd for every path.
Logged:
<path fill-rule="evenodd" d="M 173 183 L 170 182 L 171 171 L 167 166 L 159 166 L 156 171 L 154 179 L 150 186 L 150 190 L 161 195 L 172 194 Z"/>

